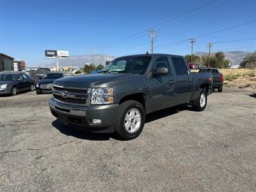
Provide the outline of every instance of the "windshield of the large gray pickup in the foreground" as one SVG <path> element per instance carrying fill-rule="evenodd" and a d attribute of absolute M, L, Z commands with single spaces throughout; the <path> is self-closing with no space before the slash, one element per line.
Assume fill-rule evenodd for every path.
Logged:
<path fill-rule="evenodd" d="M 151 56 L 128 56 L 111 61 L 100 73 L 132 73 L 143 74 L 148 67 Z"/>

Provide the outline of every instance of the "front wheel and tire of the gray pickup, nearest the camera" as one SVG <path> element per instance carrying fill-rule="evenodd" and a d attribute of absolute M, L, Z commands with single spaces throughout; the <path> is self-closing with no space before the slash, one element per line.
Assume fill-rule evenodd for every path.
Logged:
<path fill-rule="evenodd" d="M 136 116 L 136 118 L 135 118 Z M 136 100 L 127 100 L 120 104 L 118 125 L 115 134 L 122 140 L 138 137 L 145 124 L 145 110 Z"/>

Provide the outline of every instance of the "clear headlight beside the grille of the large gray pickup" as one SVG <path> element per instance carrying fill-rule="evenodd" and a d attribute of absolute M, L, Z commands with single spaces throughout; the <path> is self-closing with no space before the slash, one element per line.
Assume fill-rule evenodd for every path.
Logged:
<path fill-rule="evenodd" d="M 114 102 L 113 88 L 92 88 L 91 104 L 110 104 Z"/>

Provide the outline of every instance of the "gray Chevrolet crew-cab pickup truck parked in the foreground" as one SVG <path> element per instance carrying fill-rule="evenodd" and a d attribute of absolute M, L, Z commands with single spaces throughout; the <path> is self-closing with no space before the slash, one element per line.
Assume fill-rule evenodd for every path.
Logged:
<path fill-rule="evenodd" d="M 146 114 L 187 102 L 203 111 L 211 91 L 212 74 L 190 72 L 182 56 L 140 54 L 116 58 L 98 74 L 56 79 L 49 106 L 63 124 L 131 140 Z"/>

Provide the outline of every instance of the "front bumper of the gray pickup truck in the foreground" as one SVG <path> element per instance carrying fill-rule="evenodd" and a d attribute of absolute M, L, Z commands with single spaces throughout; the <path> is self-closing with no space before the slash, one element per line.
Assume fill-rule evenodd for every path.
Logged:
<path fill-rule="evenodd" d="M 118 104 L 99 106 L 73 106 L 49 100 L 49 107 L 61 123 L 90 132 L 113 132 L 118 121 Z M 92 124 L 93 119 L 100 119 L 102 124 Z"/>

